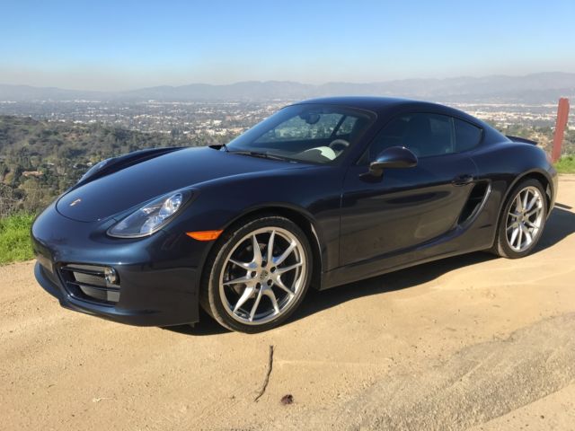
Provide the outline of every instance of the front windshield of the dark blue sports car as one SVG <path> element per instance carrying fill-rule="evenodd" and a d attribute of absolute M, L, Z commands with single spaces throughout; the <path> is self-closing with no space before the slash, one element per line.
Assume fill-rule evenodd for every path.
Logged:
<path fill-rule="evenodd" d="M 373 118 L 361 110 L 302 104 L 279 110 L 226 145 L 230 152 L 332 163 L 357 142 Z"/>

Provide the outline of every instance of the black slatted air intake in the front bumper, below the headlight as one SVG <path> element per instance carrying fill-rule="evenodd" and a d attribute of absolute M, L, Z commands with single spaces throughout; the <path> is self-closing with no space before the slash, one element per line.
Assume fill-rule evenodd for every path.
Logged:
<path fill-rule="evenodd" d="M 96 265 L 68 264 L 60 268 L 66 290 L 83 301 L 103 305 L 119 302 L 119 284 L 111 284 L 105 278 L 106 267 Z"/>

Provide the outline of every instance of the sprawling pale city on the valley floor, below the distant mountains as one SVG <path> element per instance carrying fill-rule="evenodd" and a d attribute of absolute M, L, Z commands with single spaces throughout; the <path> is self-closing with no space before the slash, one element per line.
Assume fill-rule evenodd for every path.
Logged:
<path fill-rule="evenodd" d="M 242 133 L 294 101 L 0 101 L 0 115 L 185 136 Z M 447 103 L 499 127 L 553 127 L 556 103 Z M 573 126 L 571 126 L 573 128 Z"/>

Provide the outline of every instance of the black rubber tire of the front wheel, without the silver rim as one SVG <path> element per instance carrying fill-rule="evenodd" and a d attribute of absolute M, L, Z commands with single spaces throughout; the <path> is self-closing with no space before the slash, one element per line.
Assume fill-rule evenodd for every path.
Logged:
<path fill-rule="evenodd" d="M 289 310 L 283 312 L 278 319 L 262 323 L 261 325 L 248 325 L 240 321 L 235 321 L 234 318 L 226 312 L 226 304 L 222 302 L 222 298 L 219 294 L 219 281 L 224 265 L 226 264 L 226 258 L 229 252 L 234 249 L 237 242 L 241 241 L 249 233 L 266 227 L 279 227 L 296 236 L 297 241 L 302 245 L 305 255 L 305 280 L 302 284 L 301 295 L 299 295 L 296 302 L 290 306 Z M 216 244 L 214 249 L 212 259 L 208 259 L 210 268 L 209 277 L 206 277 L 204 280 L 206 286 L 202 286 L 203 288 L 200 295 L 203 297 L 200 298 L 200 303 L 206 312 L 227 329 L 247 333 L 270 330 L 286 321 L 289 316 L 296 311 L 300 303 L 303 302 L 312 276 L 313 255 L 305 233 L 288 218 L 282 216 L 263 216 L 243 221 L 241 224 L 235 224 L 223 235 L 221 241 Z"/>

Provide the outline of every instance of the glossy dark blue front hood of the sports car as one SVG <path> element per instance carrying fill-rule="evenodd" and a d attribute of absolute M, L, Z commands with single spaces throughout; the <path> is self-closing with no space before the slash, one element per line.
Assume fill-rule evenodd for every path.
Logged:
<path fill-rule="evenodd" d="M 209 147 L 186 148 L 80 184 L 61 197 L 56 207 L 62 216 L 93 222 L 208 180 L 298 167 L 302 163 L 226 153 Z"/>

